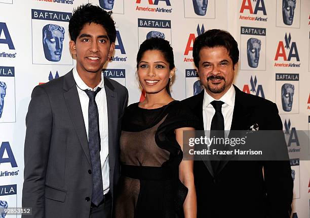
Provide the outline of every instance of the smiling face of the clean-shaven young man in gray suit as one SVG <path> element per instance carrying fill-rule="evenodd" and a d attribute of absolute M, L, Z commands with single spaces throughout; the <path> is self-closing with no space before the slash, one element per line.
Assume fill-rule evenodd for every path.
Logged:
<path fill-rule="evenodd" d="M 70 50 L 76 55 L 76 69 L 79 74 L 101 74 L 114 46 L 114 43 L 110 43 L 103 26 L 95 23 L 85 24 L 76 42 L 70 41 Z"/>

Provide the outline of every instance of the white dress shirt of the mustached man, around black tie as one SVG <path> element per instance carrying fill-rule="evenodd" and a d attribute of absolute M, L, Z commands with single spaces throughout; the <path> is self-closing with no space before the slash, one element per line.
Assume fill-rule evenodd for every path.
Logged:
<path fill-rule="evenodd" d="M 222 114 L 224 117 L 224 130 L 230 130 L 232 114 L 234 114 L 235 107 L 235 87 L 233 85 L 230 86 L 228 91 L 218 100 L 223 101 L 222 104 Z M 204 100 L 203 100 L 203 119 L 204 119 L 204 128 L 205 130 L 210 130 L 212 118 L 215 114 L 215 109 L 212 106 L 211 102 L 214 101 L 213 97 L 211 97 L 205 89 Z M 227 132 L 225 131 L 225 137 L 227 137 Z"/>

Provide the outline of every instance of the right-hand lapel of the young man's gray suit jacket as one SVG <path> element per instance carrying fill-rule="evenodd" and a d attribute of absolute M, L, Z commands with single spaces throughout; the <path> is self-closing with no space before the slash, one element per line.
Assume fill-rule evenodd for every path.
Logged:
<path fill-rule="evenodd" d="M 104 78 L 104 89 L 106 94 L 107 114 L 108 114 L 108 137 L 109 137 L 109 167 L 114 170 L 116 158 L 115 134 L 118 127 L 118 95 L 114 92 L 114 87 L 107 78 Z M 110 174 L 112 176 L 112 174 Z M 113 181 L 113 180 L 110 180 Z"/>

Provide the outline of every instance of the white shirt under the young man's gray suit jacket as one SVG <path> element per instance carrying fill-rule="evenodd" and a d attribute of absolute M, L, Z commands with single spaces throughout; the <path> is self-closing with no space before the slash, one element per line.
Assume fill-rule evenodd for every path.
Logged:
<path fill-rule="evenodd" d="M 88 138 L 88 103 L 89 97 L 86 94 L 86 89 L 96 91 L 98 87 L 101 90 L 96 95 L 96 103 L 98 107 L 99 114 L 99 133 L 100 133 L 100 161 L 101 161 L 101 172 L 102 172 L 102 183 L 103 183 L 103 194 L 109 191 L 110 181 L 109 181 L 109 146 L 108 146 L 108 118 L 107 118 L 107 105 L 106 105 L 106 94 L 104 89 L 103 74 L 101 74 L 100 83 L 94 88 L 88 87 L 85 82 L 81 79 L 76 71 L 76 67 L 73 68 L 73 78 L 76 83 L 76 88 L 78 88 L 79 98 L 82 107 L 82 113 L 85 123 L 85 129 Z"/>

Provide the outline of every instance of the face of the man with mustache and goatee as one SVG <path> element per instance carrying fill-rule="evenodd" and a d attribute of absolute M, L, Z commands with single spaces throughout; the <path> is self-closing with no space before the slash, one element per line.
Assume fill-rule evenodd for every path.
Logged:
<path fill-rule="evenodd" d="M 204 47 L 200 50 L 199 57 L 199 78 L 206 92 L 219 99 L 234 81 L 237 64 L 232 64 L 229 53 L 223 46 Z"/>

